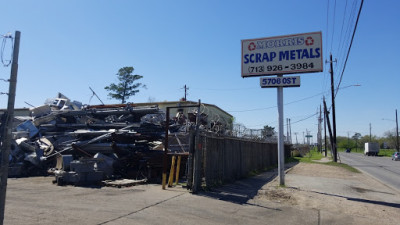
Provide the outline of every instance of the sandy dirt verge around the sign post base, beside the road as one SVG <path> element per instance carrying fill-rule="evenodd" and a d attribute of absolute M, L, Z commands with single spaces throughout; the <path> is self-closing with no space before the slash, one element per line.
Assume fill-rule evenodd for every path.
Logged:
<path fill-rule="evenodd" d="M 400 224 L 399 191 L 363 173 L 299 163 L 285 175 L 285 187 L 278 184 L 279 179 L 274 179 L 257 198 L 325 214 L 346 214 L 367 224 Z"/>

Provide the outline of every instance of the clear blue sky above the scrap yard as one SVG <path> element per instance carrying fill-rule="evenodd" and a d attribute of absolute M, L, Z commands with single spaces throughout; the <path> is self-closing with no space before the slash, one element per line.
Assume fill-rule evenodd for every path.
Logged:
<path fill-rule="evenodd" d="M 58 92 L 100 104 L 96 98 L 89 102 L 89 87 L 106 104 L 117 103 L 104 87 L 116 82 L 119 68 L 133 66 L 148 88 L 130 102 L 179 100 L 186 84 L 189 100 L 218 105 L 257 129 L 278 126 L 277 93 L 261 89 L 259 78 L 241 77 L 240 41 L 321 31 L 324 59 L 332 53 L 338 60 L 337 85 L 359 5 L 360 0 L 15 0 L 2 4 L 0 34 L 21 31 L 15 107 L 42 105 Z M 395 128 L 399 7 L 394 0 L 364 3 L 336 97 L 338 135 L 368 135 L 370 123 L 377 136 Z M 328 68 L 301 74 L 301 87 L 284 89 L 284 116 L 299 140 L 306 130 L 316 136 L 315 114 L 324 94 L 331 105 Z M 9 75 L 10 67 L 0 67 L 0 78 Z M 7 91 L 8 84 L 0 82 L 0 92 Z M 1 95 L 0 108 L 6 105 Z"/>

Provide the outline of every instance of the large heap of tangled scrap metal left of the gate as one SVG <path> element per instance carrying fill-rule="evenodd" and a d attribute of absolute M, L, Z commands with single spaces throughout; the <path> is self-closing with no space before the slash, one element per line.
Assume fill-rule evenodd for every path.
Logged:
<path fill-rule="evenodd" d="M 58 98 L 30 114 L 16 117 L 9 176 L 52 172 L 60 185 L 161 177 L 165 112 L 157 106 L 81 107 Z M 172 120 L 170 132 L 181 127 Z"/>

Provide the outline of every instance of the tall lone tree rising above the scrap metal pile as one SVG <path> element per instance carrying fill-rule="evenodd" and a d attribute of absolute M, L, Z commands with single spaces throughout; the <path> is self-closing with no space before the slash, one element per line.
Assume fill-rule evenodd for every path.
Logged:
<path fill-rule="evenodd" d="M 129 97 L 139 92 L 139 88 L 146 88 L 146 85 L 136 82 L 142 79 L 143 76 L 137 74 L 133 75 L 132 73 L 134 70 L 133 67 L 123 67 L 119 69 L 116 74 L 119 82 L 117 84 L 112 83 L 104 88 L 109 92 L 108 96 L 121 100 L 121 103 L 124 104 Z"/>

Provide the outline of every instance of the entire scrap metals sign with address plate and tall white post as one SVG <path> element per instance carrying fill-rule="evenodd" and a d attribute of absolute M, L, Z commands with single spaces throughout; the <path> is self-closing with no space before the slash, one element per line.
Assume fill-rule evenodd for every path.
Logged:
<path fill-rule="evenodd" d="M 279 184 L 285 185 L 285 147 L 283 136 L 283 88 L 300 87 L 300 77 L 285 74 L 323 71 L 322 33 L 284 35 L 242 40 L 242 77 L 264 77 L 262 88 L 277 88 Z"/>

